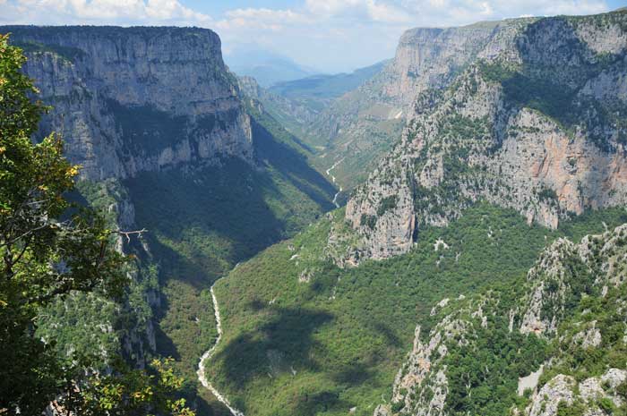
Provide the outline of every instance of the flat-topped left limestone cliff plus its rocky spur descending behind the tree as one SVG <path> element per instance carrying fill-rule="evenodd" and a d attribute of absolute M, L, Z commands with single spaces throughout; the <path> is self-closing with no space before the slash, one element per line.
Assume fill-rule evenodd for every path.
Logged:
<path fill-rule="evenodd" d="M 28 61 L 23 69 L 35 81 L 40 99 L 52 106 L 39 134 L 63 135 L 65 155 L 82 166 L 78 189 L 113 228 L 141 228 L 124 179 L 142 171 L 217 162 L 219 157 L 253 162 L 251 122 L 214 32 L 0 27 L 5 32 L 24 49 Z M 128 268 L 129 299 L 119 309 L 103 311 L 93 326 L 98 333 L 98 327 L 113 328 L 124 321 L 115 333 L 111 330 L 116 343 L 94 348 L 106 357 L 119 344 L 121 352 L 142 366 L 156 349 L 152 310 L 159 308 L 159 284 L 146 267 L 155 260 L 141 239 L 129 244 L 119 237 L 116 247 L 142 260 Z M 67 305 L 73 303 L 77 301 L 68 298 Z M 77 313 L 82 307 L 87 308 L 80 304 Z M 59 335 L 68 325 L 60 319 L 48 327 Z"/>

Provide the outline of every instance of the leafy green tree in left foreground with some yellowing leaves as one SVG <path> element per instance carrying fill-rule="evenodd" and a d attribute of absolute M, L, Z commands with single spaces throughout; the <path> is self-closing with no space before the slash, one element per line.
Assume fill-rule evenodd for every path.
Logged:
<path fill-rule="evenodd" d="M 67 368 L 34 336 L 38 311 L 50 301 L 77 291 L 121 299 L 128 258 L 101 216 L 66 200 L 80 166 L 64 158 L 61 138 L 30 140 L 47 107 L 30 99 L 39 91 L 21 72 L 25 60 L 0 35 L 0 414 L 39 415 L 62 392 L 65 409 L 82 414 L 122 414 L 131 404 L 144 406 L 140 414 L 188 414 L 169 398 L 180 382 L 160 361 L 152 374 L 118 366 L 105 377 L 89 362 Z"/>

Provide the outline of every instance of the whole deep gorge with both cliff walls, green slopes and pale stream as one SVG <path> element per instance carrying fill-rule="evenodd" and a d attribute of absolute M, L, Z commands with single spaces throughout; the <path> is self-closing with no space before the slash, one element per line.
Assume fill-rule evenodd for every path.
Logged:
<path fill-rule="evenodd" d="M 71 198 L 146 230 L 122 300 L 39 310 L 60 357 L 170 356 L 199 416 L 627 412 L 626 10 L 411 29 L 268 89 L 212 30 L 0 33 Z"/>

